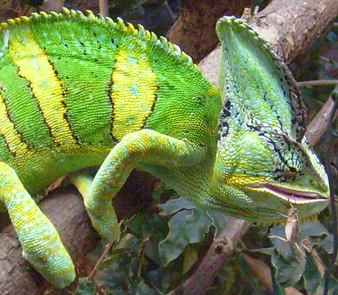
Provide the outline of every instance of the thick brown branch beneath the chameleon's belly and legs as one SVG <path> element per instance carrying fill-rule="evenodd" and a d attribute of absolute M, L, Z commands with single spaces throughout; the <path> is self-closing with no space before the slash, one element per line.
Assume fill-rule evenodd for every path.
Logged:
<path fill-rule="evenodd" d="M 152 203 L 157 182 L 147 173 L 133 171 L 113 202 L 118 218 L 121 220 L 136 212 L 145 212 Z M 39 207 L 56 226 L 77 272 L 82 276 L 89 275 L 92 266 L 85 255 L 98 245 L 100 237 L 92 228 L 82 197 L 75 188 L 58 190 L 43 199 Z M 3 216 L 6 214 L 0 215 L 1 225 L 6 222 L 1 219 Z M 17 235 L 12 225 L 8 225 L 0 232 L 0 295 L 42 295 L 46 289 L 52 289 L 21 252 Z M 52 294 L 69 295 L 76 286 L 77 282 L 74 282 L 65 290 L 53 290 Z"/>

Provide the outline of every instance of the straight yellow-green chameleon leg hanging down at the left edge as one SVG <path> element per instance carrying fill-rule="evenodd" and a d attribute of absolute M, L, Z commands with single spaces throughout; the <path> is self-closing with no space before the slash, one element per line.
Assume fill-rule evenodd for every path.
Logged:
<path fill-rule="evenodd" d="M 15 171 L 0 162 L 0 201 L 6 207 L 22 246 L 22 255 L 44 278 L 64 288 L 76 277 L 59 233 L 35 204 Z"/>

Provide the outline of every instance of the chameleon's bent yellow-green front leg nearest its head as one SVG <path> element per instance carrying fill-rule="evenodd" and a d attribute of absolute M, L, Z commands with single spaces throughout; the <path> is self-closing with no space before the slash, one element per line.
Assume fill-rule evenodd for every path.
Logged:
<path fill-rule="evenodd" d="M 109 152 L 93 179 L 76 174 L 71 176 L 71 180 L 84 198 L 95 230 L 113 242 L 117 240 L 120 229 L 112 198 L 138 163 L 185 166 L 197 163 L 204 154 L 203 148 L 197 144 L 142 129 L 123 137 Z"/>

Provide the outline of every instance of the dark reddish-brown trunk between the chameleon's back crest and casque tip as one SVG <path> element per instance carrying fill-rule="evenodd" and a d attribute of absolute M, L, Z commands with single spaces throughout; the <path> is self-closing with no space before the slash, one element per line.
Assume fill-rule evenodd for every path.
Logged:
<path fill-rule="evenodd" d="M 215 33 L 216 21 L 223 15 L 240 17 L 243 7 L 251 6 L 253 0 L 186 0 L 182 2 L 180 17 L 169 30 L 170 42 L 181 49 L 197 63 L 218 44 Z"/>

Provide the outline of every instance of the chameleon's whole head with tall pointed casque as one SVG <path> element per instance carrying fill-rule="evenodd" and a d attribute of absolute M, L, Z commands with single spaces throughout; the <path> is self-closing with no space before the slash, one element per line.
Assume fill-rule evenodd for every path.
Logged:
<path fill-rule="evenodd" d="M 315 215 L 329 203 L 328 178 L 307 143 L 291 73 L 240 20 L 223 17 L 216 32 L 223 107 L 211 203 L 253 221 L 285 220 L 291 206 L 300 218 Z"/>

